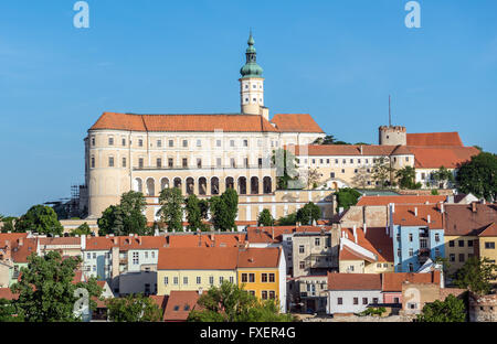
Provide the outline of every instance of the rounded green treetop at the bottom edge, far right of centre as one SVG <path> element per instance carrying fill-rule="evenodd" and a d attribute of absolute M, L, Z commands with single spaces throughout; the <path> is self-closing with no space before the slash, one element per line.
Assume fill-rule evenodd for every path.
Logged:
<path fill-rule="evenodd" d="M 464 300 L 448 295 L 444 301 L 435 300 L 435 302 L 426 303 L 416 320 L 420 322 L 465 322 Z"/>

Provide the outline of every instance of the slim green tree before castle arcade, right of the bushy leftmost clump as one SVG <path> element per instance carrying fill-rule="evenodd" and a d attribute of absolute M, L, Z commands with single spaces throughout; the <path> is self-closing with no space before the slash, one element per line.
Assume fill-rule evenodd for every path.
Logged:
<path fill-rule="evenodd" d="M 183 230 L 183 196 L 179 187 L 167 187 L 160 192 L 160 218 L 168 226 L 168 230 Z"/>

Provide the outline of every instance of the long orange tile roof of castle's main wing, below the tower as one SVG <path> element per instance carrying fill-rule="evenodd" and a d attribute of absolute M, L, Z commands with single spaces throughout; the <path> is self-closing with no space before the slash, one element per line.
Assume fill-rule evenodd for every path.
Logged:
<path fill-rule="evenodd" d="M 261 132 L 277 130 L 258 115 L 135 115 L 104 112 L 89 130 Z"/>

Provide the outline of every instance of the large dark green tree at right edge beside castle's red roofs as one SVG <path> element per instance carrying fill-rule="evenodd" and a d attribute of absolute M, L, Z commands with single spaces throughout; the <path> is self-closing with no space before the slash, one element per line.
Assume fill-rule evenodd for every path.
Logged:
<path fill-rule="evenodd" d="M 456 174 L 457 189 L 489 202 L 497 200 L 497 157 L 480 152 L 464 163 Z"/>

